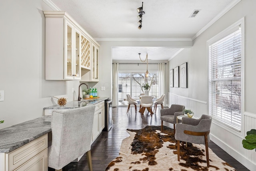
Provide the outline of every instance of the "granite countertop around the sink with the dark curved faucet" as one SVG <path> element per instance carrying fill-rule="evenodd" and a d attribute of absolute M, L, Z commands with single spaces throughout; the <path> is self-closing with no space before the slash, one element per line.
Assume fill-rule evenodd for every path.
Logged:
<path fill-rule="evenodd" d="M 44 109 L 74 109 L 77 107 L 84 107 L 88 103 L 90 104 L 97 104 L 101 101 L 104 101 L 105 99 L 108 99 L 109 97 L 100 97 L 98 99 L 81 99 L 81 101 L 70 101 L 67 102 L 66 105 L 60 106 L 60 105 L 52 105 L 48 107 L 44 107 Z"/>

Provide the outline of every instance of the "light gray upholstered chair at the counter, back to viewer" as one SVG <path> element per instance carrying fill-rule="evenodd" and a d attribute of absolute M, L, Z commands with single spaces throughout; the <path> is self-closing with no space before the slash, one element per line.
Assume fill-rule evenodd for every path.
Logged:
<path fill-rule="evenodd" d="M 62 171 L 62 167 L 84 153 L 92 171 L 91 141 L 95 105 L 52 112 L 52 145 L 48 166 Z"/>

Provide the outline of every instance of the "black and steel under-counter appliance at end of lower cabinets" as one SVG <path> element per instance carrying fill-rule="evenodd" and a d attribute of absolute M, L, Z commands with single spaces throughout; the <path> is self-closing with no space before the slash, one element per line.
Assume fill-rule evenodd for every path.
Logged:
<path fill-rule="evenodd" d="M 112 100 L 105 100 L 105 127 L 103 131 L 109 131 L 112 127 Z"/>

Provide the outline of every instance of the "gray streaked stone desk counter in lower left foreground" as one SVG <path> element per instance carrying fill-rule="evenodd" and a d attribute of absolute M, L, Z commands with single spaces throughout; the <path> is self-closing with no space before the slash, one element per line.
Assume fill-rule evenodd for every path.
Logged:
<path fill-rule="evenodd" d="M 51 116 L 0 129 L 0 153 L 10 153 L 51 131 Z"/>

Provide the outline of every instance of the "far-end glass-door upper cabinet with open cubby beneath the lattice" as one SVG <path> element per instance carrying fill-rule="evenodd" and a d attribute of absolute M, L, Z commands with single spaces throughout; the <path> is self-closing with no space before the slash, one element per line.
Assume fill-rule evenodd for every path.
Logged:
<path fill-rule="evenodd" d="M 91 68 L 90 70 L 82 70 L 82 82 L 99 82 L 100 69 L 100 48 L 93 42 L 91 43 Z"/>

